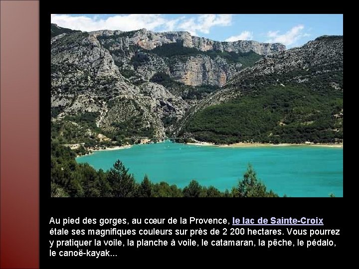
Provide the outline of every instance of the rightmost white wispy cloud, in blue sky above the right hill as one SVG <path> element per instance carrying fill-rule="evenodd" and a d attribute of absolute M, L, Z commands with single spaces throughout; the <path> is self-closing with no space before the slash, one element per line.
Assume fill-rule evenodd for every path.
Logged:
<path fill-rule="evenodd" d="M 302 37 L 309 36 L 308 33 L 303 32 L 304 25 L 299 24 L 292 27 L 289 31 L 284 34 L 279 34 L 279 31 L 269 31 L 267 37 L 268 43 L 282 43 L 284 45 L 292 45 L 294 42 Z"/>

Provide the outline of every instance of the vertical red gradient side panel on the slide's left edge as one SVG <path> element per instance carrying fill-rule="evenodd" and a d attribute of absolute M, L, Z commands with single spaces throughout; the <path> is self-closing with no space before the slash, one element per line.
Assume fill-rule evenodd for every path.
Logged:
<path fill-rule="evenodd" d="M 0 268 L 38 268 L 39 2 L 0 4 Z"/>

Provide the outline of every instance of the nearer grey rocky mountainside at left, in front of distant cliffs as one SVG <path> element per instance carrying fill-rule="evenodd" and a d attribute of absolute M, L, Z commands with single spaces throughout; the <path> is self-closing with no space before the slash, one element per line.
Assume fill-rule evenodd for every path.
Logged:
<path fill-rule="evenodd" d="M 75 33 L 51 46 L 51 107 L 66 115 L 99 113 L 97 126 L 116 133 L 121 123 L 165 136 L 161 118 L 180 118 L 188 105 L 162 85 L 133 85 L 119 72 L 109 51 L 91 34 Z M 132 122 L 133 121 L 133 122 Z"/>

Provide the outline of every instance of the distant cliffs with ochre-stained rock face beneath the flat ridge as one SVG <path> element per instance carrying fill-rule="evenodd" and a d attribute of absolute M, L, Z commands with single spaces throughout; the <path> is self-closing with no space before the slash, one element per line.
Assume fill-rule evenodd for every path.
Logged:
<path fill-rule="evenodd" d="M 190 86 L 201 84 L 222 86 L 242 66 L 240 62 L 229 63 L 224 58 L 209 57 L 203 54 L 204 52 L 254 52 L 258 55 L 270 55 L 285 50 L 285 46 L 279 43 L 269 44 L 247 40 L 219 42 L 191 36 L 183 31 L 157 33 L 146 29 L 131 32 L 103 30 L 90 34 L 109 50 L 120 70 L 134 70 L 146 80 L 150 80 L 156 73 L 166 73 L 173 79 Z M 193 48 L 194 51 L 191 55 L 181 55 L 180 58 L 159 57 L 153 52 L 157 47 L 167 44 L 180 44 L 185 48 Z M 197 53 L 194 53 L 195 51 Z M 139 55 L 146 60 L 134 64 L 134 59 L 141 60 Z"/>

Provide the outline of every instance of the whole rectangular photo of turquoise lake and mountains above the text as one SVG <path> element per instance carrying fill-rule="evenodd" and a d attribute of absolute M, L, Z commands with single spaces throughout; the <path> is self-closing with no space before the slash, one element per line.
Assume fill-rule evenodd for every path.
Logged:
<path fill-rule="evenodd" d="M 52 14 L 51 197 L 343 197 L 343 14 Z"/>

